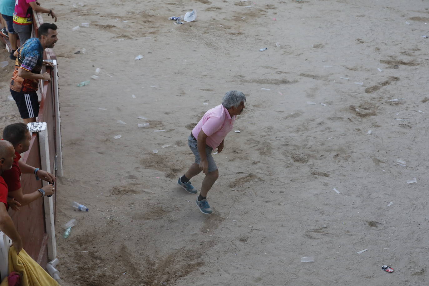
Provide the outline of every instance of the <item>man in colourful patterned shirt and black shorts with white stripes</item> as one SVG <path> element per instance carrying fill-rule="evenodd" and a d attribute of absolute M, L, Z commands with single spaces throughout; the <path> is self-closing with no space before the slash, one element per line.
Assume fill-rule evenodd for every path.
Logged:
<path fill-rule="evenodd" d="M 42 66 L 53 66 L 43 60 L 45 48 L 54 48 L 57 42 L 57 26 L 43 23 L 39 27 L 39 38 L 31 38 L 15 51 L 15 69 L 10 81 L 10 93 L 18 106 L 24 123 L 36 122 L 39 116 L 37 97 L 38 80 L 50 81 L 51 76 L 40 74 Z"/>

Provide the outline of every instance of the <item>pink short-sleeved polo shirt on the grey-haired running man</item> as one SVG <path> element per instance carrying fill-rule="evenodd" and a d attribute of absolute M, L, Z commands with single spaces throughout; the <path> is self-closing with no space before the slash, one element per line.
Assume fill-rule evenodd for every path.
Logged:
<path fill-rule="evenodd" d="M 192 135 L 198 138 L 199 132 L 202 131 L 208 136 L 205 143 L 213 149 L 218 148 L 225 136 L 233 129 L 236 116 L 231 118 L 227 108 L 218 105 L 209 109 L 199 120 L 198 124 L 192 129 Z"/>

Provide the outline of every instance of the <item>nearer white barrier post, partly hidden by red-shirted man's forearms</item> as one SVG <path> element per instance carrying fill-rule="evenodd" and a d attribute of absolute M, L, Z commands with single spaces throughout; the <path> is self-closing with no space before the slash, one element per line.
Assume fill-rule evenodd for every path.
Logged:
<path fill-rule="evenodd" d="M 51 161 L 49 158 L 48 128 L 46 122 L 42 123 L 42 130 L 39 132 L 39 146 L 42 170 L 52 172 Z M 46 186 L 47 184 L 49 184 L 49 182 L 43 181 L 43 186 Z M 46 232 L 48 234 L 48 259 L 52 260 L 57 257 L 53 197 L 44 196 L 43 204 L 45 206 L 45 223 Z"/>

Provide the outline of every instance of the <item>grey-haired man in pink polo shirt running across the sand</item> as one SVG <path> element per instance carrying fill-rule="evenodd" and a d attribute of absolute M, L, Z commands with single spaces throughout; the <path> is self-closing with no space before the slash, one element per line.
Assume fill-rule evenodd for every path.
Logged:
<path fill-rule="evenodd" d="M 201 191 L 196 199 L 196 205 L 203 214 L 212 213 L 207 202 L 207 193 L 219 177 L 218 166 L 211 156 L 211 151 L 218 148 L 218 153 L 221 153 L 224 149 L 225 136 L 233 129 L 236 115 L 241 114 L 245 101 L 246 96 L 241 91 L 228 91 L 222 104 L 208 110 L 189 135 L 188 144 L 195 155 L 195 162 L 178 179 L 178 184 L 188 193 L 196 194 L 198 190 L 189 180 L 201 171 L 205 174 Z"/>

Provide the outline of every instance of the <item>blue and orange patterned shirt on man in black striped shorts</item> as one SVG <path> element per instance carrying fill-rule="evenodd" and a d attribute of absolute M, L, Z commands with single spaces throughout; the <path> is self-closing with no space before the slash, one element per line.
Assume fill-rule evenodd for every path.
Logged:
<path fill-rule="evenodd" d="M 36 79 L 19 77 L 18 70 L 25 69 L 26 71 L 40 74 L 43 66 L 42 44 L 38 38 L 31 38 L 19 47 L 17 52 L 18 57 L 15 60 L 15 69 L 10 81 L 10 89 L 21 93 L 36 92 L 39 88 L 38 81 Z"/>

